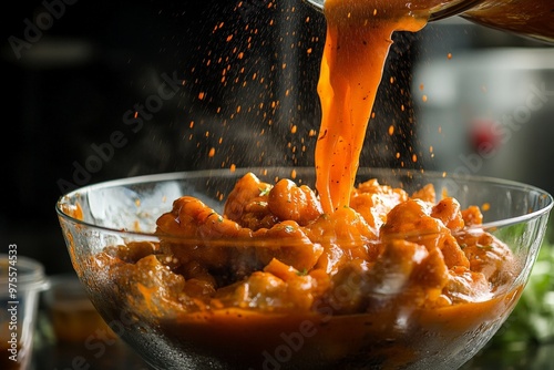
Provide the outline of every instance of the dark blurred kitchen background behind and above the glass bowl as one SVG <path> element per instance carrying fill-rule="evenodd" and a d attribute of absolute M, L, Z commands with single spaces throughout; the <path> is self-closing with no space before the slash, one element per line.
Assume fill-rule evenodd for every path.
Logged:
<path fill-rule="evenodd" d="M 325 21 L 300 0 L 25 0 L 0 17 L 0 248 L 18 244 L 48 274 L 71 270 L 54 204 L 74 187 L 232 165 L 312 165 Z M 478 135 L 478 124 L 517 106 L 479 94 L 515 70 L 523 78 L 499 89 L 520 89 L 520 102 L 527 75 L 554 91 L 550 45 L 461 20 L 394 41 L 362 165 L 455 171 L 461 155 L 479 154 L 475 143 L 495 140 Z M 506 51 L 512 61 L 542 61 L 495 74 Z M 553 106 L 554 96 L 519 133 L 525 138 L 500 143 L 505 148 L 475 172 L 552 188 Z M 511 165 L 531 152 L 542 153 L 529 160 L 535 165 Z"/>

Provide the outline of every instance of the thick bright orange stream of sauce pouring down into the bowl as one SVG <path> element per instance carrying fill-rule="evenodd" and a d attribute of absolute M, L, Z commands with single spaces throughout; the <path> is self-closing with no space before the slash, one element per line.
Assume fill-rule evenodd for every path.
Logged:
<path fill-rule="evenodd" d="M 434 2 L 434 1 L 429 1 Z M 421 30 L 429 12 L 406 0 L 326 0 L 327 39 L 318 94 L 316 188 L 325 213 L 348 206 L 394 31 Z"/>

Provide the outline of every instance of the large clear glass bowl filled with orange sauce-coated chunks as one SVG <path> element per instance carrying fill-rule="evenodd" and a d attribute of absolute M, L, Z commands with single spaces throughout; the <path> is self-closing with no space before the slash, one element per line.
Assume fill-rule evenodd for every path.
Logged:
<path fill-rule="evenodd" d="M 255 202 L 232 193 L 247 174 L 260 182 Z M 92 302 L 152 367 L 459 368 L 516 305 L 553 205 L 547 193 L 521 183 L 361 168 L 358 182 L 370 188 L 377 181 L 389 196 L 352 201 L 390 210 L 386 217 L 360 212 L 375 216 L 367 223 L 372 227 L 350 208 L 306 220 L 285 207 L 258 220 L 261 236 L 253 237 L 254 226 L 220 216 L 229 194 L 232 213 L 248 202 L 253 214 L 259 212 L 273 196 L 267 184 L 283 178 L 312 186 L 315 173 L 161 174 L 86 186 L 59 199 L 68 250 Z M 429 199 L 410 201 L 406 209 L 388 203 L 433 192 L 432 208 Z M 283 204 L 295 204 L 310 193 L 283 194 L 294 195 Z M 174 203 L 182 196 L 202 206 L 192 198 Z M 456 205 L 473 209 L 463 214 L 463 227 L 442 212 Z M 275 223 L 284 209 L 293 209 L 296 223 Z M 300 233 L 300 224 L 310 232 Z M 449 250 L 456 257 L 447 257 Z"/>

